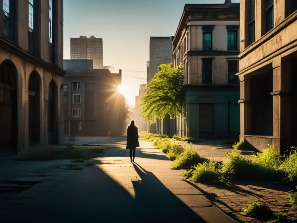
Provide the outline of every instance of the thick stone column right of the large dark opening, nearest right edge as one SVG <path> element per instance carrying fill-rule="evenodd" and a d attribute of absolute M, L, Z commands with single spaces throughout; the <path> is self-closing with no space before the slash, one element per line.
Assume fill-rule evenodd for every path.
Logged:
<path fill-rule="evenodd" d="M 280 139 L 283 152 L 291 141 L 291 69 L 289 62 L 282 62 L 281 57 L 274 59 L 273 67 L 273 137 Z"/>

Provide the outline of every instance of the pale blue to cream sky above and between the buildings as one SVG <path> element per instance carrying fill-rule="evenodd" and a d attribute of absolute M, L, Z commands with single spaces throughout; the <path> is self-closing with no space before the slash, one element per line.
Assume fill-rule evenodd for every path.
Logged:
<path fill-rule="evenodd" d="M 184 4 L 224 1 L 64 0 L 64 59 L 70 59 L 70 37 L 103 38 L 103 66 L 122 69 L 122 85 L 127 89 L 124 96 L 135 105 L 139 85 L 146 83 L 149 37 L 173 36 Z"/>

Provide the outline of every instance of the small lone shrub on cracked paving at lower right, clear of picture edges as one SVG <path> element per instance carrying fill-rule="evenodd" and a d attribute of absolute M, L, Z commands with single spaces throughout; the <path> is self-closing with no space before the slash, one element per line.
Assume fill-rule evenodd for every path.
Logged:
<path fill-rule="evenodd" d="M 241 210 L 252 217 L 265 217 L 267 219 L 271 219 L 274 217 L 274 214 L 269 209 L 269 207 L 259 201 L 254 201 L 251 204 L 247 205 L 247 208 L 242 208 Z"/>

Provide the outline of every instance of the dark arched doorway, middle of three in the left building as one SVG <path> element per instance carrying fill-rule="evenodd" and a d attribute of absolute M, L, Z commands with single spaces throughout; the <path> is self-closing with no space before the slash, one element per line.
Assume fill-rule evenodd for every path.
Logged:
<path fill-rule="evenodd" d="M 39 74 L 33 71 L 29 78 L 29 144 L 40 143 L 40 87 Z"/>

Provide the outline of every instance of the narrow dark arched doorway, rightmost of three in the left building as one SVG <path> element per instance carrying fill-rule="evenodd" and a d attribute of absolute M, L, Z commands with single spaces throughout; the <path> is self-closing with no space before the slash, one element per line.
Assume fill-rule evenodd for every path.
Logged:
<path fill-rule="evenodd" d="M 55 81 L 50 81 L 48 89 L 48 144 L 58 145 L 58 95 Z"/>

